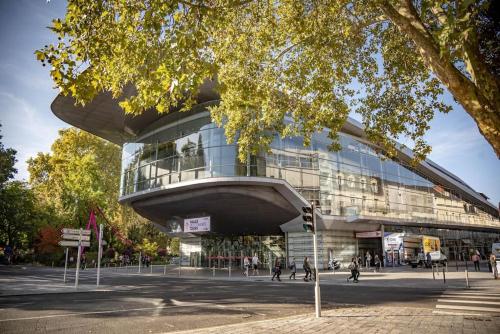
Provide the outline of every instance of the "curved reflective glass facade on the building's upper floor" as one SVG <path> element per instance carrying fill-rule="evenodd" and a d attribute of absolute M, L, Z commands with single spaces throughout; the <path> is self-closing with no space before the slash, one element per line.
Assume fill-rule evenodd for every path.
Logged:
<path fill-rule="evenodd" d="M 328 150 L 327 132 L 304 147 L 300 137 L 276 137 L 271 152 L 241 163 L 237 147 L 207 112 L 188 117 L 123 146 L 121 195 L 194 179 L 260 176 L 286 180 L 325 215 L 377 216 L 500 227 L 497 218 L 462 200 L 409 166 L 381 158 L 369 144 L 340 134 Z"/>

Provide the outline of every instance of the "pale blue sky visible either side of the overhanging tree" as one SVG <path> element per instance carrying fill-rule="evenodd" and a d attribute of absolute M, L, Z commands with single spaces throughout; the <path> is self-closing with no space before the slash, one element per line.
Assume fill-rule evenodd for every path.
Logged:
<path fill-rule="evenodd" d="M 28 180 L 26 160 L 49 152 L 58 130 L 69 127 L 50 110 L 58 91 L 49 68 L 35 60 L 34 51 L 55 40 L 46 28 L 63 17 L 64 0 L 0 0 L 0 123 L 5 147 L 17 150 L 19 180 Z M 450 94 L 453 106 L 437 114 L 426 138 L 429 158 L 457 175 L 474 190 L 500 202 L 500 160 L 479 134 L 474 121 Z"/>

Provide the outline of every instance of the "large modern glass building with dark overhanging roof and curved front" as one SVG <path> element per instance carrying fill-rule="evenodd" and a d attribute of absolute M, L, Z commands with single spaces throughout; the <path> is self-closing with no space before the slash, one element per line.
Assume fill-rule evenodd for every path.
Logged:
<path fill-rule="evenodd" d="M 206 110 L 217 96 L 210 88 L 201 96 L 191 112 L 136 118 L 106 94 L 85 108 L 62 96 L 52 106 L 63 120 L 122 145 L 120 202 L 179 236 L 185 265 L 240 265 L 255 253 L 265 264 L 312 256 L 301 217 L 311 201 L 322 266 L 366 251 L 387 257 L 383 236 L 392 232 L 438 236 L 451 259 L 487 254 L 500 238 L 498 208 L 483 194 L 432 161 L 411 167 L 408 150 L 387 159 L 354 120 L 342 129 L 339 152 L 328 150 L 325 130 L 308 147 L 300 137 L 276 137 L 270 152 L 242 163 Z M 197 217 L 210 217 L 208 231 L 185 229 Z"/>

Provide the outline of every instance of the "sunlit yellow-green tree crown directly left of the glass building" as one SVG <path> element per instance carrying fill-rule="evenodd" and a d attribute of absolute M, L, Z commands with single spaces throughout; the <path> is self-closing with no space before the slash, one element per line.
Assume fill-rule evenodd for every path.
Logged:
<path fill-rule="evenodd" d="M 118 146 L 85 131 L 60 130 L 51 153 L 28 160 L 29 182 L 40 201 L 78 226 L 95 206 L 120 211 L 120 155 Z"/>

